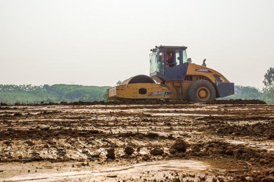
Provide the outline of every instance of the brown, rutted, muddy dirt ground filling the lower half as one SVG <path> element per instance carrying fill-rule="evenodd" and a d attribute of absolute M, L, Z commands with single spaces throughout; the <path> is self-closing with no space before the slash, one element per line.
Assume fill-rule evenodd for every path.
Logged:
<path fill-rule="evenodd" d="M 274 181 L 274 105 L 1 103 L 0 181 Z"/>

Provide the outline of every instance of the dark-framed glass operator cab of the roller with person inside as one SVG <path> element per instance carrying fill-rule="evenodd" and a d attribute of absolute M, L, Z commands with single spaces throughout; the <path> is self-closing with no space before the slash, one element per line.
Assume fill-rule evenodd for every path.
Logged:
<path fill-rule="evenodd" d="M 159 82 L 165 80 L 184 80 L 188 60 L 187 47 L 163 46 L 152 49 L 150 58 L 150 77 Z"/>

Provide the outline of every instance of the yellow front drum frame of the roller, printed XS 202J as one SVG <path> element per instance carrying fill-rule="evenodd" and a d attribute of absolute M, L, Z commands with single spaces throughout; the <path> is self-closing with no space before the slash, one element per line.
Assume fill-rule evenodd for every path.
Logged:
<path fill-rule="evenodd" d="M 143 91 L 140 94 L 140 89 Z M 144 90 L 146 90 L 144 93 Z M 108 89 L 108 99 L 168 99 L 169 88 L 158 83 L 132 83 Z"/>

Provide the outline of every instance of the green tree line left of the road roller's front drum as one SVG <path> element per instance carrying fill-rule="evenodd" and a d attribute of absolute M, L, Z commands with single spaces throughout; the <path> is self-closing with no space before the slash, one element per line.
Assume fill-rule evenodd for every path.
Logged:
<path fill-rule="evenodd" d="M 0 102 L 6 104 L 102 101 L 111 86 L 0 84 Z"/>

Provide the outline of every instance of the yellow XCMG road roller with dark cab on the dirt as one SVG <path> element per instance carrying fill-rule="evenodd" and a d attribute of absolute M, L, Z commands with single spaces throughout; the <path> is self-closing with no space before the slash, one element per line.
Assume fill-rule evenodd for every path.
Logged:
<path fill-rule="evenodd" d="M 234 94 L 234 83 L 221 73 L 187 58 L 187 47 L 155 46 L 150 54 L 150 75 L 136 75 L 108 89 L 109 100 L 170 99 L 194 103 Z"/>

